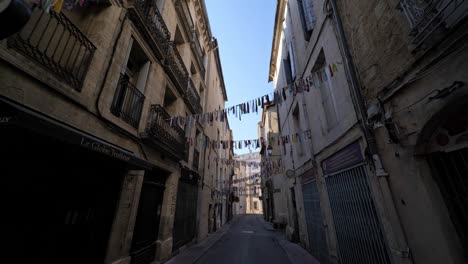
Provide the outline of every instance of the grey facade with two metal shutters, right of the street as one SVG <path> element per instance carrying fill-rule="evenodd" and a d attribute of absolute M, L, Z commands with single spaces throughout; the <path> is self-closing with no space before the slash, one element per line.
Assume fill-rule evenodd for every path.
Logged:
<path fill-rule="evenodd" d="M 286 140 L 265 142 L 280 148 L 285 232 L 320 263 L 411 262 L 392 222 L 397 213 L 388 207 L 392 197 L 334 6 L 335 0 L 277 1 L 269 81 L 282 97 L 275 103 Z"/>

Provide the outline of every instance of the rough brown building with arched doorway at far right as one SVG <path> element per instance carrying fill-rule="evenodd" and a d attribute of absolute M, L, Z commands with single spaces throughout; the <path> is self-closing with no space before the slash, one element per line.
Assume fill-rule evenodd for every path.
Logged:
<path fill-rule="evenodd" d="M 415 263 L 468 262 L 468 1 L 337 7 L 387 173 L 389 224 L 401 226 L 393 248 Z"/>

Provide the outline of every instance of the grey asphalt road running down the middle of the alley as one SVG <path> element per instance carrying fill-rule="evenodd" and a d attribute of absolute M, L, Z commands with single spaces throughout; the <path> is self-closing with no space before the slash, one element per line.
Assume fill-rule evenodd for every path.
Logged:
<path fill-rule="evenodd" d="M 240 216 L 228 232 L 196 263 L 290 263 L 286 253 L 274 239 L 275 231 L 268 231 L 261 221 L 261 215 Z"/>

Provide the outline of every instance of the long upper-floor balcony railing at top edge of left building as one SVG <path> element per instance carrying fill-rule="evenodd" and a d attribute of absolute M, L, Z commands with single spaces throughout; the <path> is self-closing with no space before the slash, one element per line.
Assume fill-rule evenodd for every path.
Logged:
<path fill-rule="evenodd" d="M 133 3 L 140 20 L 143 21 L 144 27 L 146 27 L 154 44 L 159 48 L 161 56 L 163 56 L 162 54 L 166 53 L 169 48 L 171 33 L 156 6 L 156 1 L 134 0 Z M 131 14 L 134 14 L 133 9 L 130 11 Z M 138 22 L 139 21 L 137 21 L 137 25 L 141 26 L 141 23 Z"/>

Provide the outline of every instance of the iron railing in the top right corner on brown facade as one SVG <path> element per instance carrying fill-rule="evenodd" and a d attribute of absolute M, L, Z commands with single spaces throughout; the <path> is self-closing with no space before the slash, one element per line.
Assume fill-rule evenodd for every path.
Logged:
<path fill-rule="evenodd" d="M 466 15 L 467 0 L 401 0 L 399 7 L 410 24 L 414 48 L 420 46 L 441 26 Z M 463 9 L 463 10 L 462 10 Z"/>

